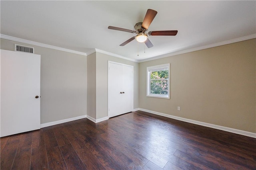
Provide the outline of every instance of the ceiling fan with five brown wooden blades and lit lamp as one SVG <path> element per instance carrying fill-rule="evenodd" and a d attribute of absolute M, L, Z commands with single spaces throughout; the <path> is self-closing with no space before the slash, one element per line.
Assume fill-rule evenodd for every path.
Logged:
<path fill-rule="evenodd" d="M 176 35 L 178 33 L 177 30 L 172 30 L 172 31 L 148 31 L 148 27 L 151 24 L 151 22 L 154 20 L 157 12 L 155 10 L 148 9 L 146 12 L 146 15 L 144 17 L 143 22 L 138 22 L 135 24 L 134 28 L 136 31 L 130 30 L 130 29 L 124 29 L 124 28 L 119 28 L 119 27 L 113 27 L 113 26 L 108 26 L 108 29 L 114 29 L 118 31 L 125 31 L 129 33 L 136 33 L 137 35 L 128 39 L 127 41 L 124 41 L 124 43 L 120 44 L 120 46 L 124 46 L 128 43 L 130 43 L 132 40 L 136 39 L 140 43 L 145 43 L 148 48 L 153 47 L 153 44 L 151 41 L 148 39 L 148 35 Z"/>

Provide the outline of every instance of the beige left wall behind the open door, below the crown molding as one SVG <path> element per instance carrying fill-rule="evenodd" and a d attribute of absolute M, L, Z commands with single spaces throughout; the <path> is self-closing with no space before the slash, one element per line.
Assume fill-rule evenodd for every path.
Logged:
<path fill-rule="evenodd" d="M 86 56 L 1 39 L 1 49 L 14 44 L 35 48 L 41 55 L 41 123 L 86 115 Z"/>

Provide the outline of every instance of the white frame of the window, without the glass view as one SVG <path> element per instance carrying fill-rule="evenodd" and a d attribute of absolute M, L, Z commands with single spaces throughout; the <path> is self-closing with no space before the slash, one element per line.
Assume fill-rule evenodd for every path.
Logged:
<path fill-rule="evenodd" d="M 152 70 L 161 70 L 161 69 L 166 69 L 168 68 L 168 94 L 151 94 L 151 86 L 150 86 L 150 72 Z M 165 98 L 165 99 L 170 99 L 170 63 L 167 64 L 161 64 L 161 65 L 156 65 L 156 66 L 149 66 L 147 67 L 147 92 L 146 96 L 147 97 L 154 97 L 154 98 Z"/>

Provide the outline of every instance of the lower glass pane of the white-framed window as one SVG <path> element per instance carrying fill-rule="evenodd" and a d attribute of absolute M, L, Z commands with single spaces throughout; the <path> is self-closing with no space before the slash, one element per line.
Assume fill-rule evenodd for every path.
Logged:
<path fill-rule="evenodd" d="M 168 80 L 151 80 L 151 94 L 168 94 Z"/>

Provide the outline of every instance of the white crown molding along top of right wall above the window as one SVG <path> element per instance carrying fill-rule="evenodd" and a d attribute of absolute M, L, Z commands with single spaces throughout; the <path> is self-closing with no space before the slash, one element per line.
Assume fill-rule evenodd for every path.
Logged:
<path fill-rule="evenodd" d="M 184 51 L 163 53 L 163 54 L 153 56 L 153 57 L 150 57 L 150 58 L 147 58 L 147 59 L 140 59 L 140 60 L 138 60 L 138 63 L 142 63 L 142 62 L 146 62 L 146 61 L 152 61 L 152 60 L 156 60 L 156 59 L 162 59 L 162 58 L 165 58 L 165 57 L 171 57 L 171 56 L 174 56 L 174 55 L 180 55 L 180 54 L 184 54 L 184 53 L 190 53 L 190 52 L 193 52 L 193 51 L 199 51 L 199 50 L 208 49 L 208 48 L 212 48 L 212 47 L 218 47 L 218 46 L 221 46 L 221 45 L 237 43 L 237 42 L 240 42 L 240 41 L 245 41 L 245 40 L 254 39 L 254 38 L 256 38 L 256 34 L 252 34 L 252 35 L 248 35 L 248 36 L 240 37 L 240 38 L 236 38 L 236 39 L 231 39 L 231 40 L 228 40 L 228 41 L 222 41 L 220 43 L 205 45 L 205 46 L 202 46 L 202 47 L 196 47 L 196 48 L 193 48 L 193 49 L 187 49 L 187 50 L 184 50 Z"/>

